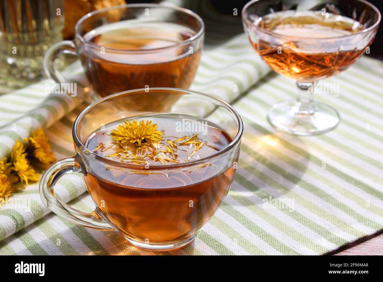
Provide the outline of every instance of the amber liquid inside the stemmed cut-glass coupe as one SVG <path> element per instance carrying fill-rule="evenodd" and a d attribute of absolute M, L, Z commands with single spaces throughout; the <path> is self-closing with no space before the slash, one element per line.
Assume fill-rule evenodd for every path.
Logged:
<path fill-rule="evenodd" d="M 263 40 L 253 43 L 254 49 L 274 71 L 297 81 L 313 81 L 337 74 L 365 51 L 342 51 L 334 49 L 331 40 L 323 43 L 315 41 L 315 38 L 339 37 L 363 30 L 358 21 L 345 16 L 322 15 L 320 11 L 277 12 L 263 16 L 256 24 L 284 36 L 313 38 L 312 43 L 300 46 L 293 42 L 272 46 Z M 310 48 L 315 53 L 310 52 Z M 318 52 L 319 49 L 322 52 Z"/>

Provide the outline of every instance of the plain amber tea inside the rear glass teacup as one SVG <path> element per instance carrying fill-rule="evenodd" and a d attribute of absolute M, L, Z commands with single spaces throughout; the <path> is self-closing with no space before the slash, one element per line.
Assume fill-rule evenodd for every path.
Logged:
<path fill-rule="evenodd" d="M 85 40 L 100 48 L 80 52 L 80 59 L 90 84 L 102 97 L 145 87 L 187 89 L 199 64 L 199 50 L 175 46 L 160 52 L 145 51 L 170 47 L 194 35 L 195 31 L 175 23 L 119 21 L 84 35 Z M 102 48 L 117 51 L 103 52 Z M 143 52 L 118 53 L 118 49 Z"/>

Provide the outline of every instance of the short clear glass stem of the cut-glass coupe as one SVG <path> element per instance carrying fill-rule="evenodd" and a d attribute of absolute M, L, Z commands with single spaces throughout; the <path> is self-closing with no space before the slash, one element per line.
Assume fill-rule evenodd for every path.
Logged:
<path fill-rule="evenodd" d="M 315 81 L 303 82 L 297 81 L 296 85 L 300 89 L 297 98 L 297 114 L 311 115 L 315 112 L 314 107 L 314 93 L 315 93 Z"/>

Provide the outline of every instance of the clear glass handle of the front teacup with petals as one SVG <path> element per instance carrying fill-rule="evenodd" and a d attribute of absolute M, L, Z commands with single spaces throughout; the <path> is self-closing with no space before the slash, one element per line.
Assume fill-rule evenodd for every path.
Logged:
<path fill-rule="evenodd" d="M 97 213 L 97 208 L 92 213 L 84 213 L 72 208 L 54 196 L 53 189 L 57 180 L 71 172 L 86 173 L 75 157 L 64 158 L 47 168 L 39 185 L 39 193 L 43 203 L 58 216 L 75 224 L 103 231 L 115 230 Z"/>

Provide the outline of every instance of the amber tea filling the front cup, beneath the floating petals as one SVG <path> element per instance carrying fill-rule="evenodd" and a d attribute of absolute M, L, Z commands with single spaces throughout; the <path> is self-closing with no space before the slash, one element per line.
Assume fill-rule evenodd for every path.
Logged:
<path fill-rule="evenodd" d="M 137 122 L 141 119 L 146 118 L 136 118 Z M 177 132 L 177 121 L 196 120 L 180 115 L 157 115 L 149 119 L 159 125 L 159 130 L 164 130 L 164 140 L 175 140 L 185 135 Z M 96 150 L 95 153 L 103 157 L 113 153 L 113 149 L 109 148 L 111 137 L 104 133 L 115 129 L 119 123 L 108 124 L 105 130 L 88 137 L 85 143 L 87 148 L 94 150 L 103 142 L 108 149 Z M 213 124 L 208 124 L 206 129 L 206 135 L 198 134 L 206 145 L 198 150 L 199 156 L 194 155 L 190 160 L 208 157 L 231 142 L 229 135 Z M 187 135 L 195 133 L 188 132 Z M 188 145 L 180 149 L 176 158 L 185 163 L 193 150 L 190 151 Z M 113 159 L 120 161 L 116 157 Z M 151 162 L 150 165 L 162 164 Z M 213 216 L 234 178 L 233 167 L 220 171 L 214 164 L 185 168 L 169 175 L 145 174 L 144 169 L 141 173 L 127 174 L 104 166 L 87 173 L 85 181 L 100 213 L 125 236 L 149 242 L 171 242 L 192 236 Z M 105 178 L 113 179 L 115 183 Z"/>

